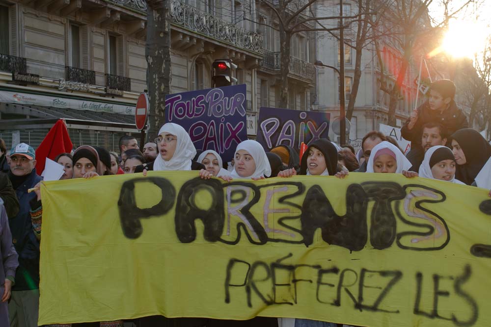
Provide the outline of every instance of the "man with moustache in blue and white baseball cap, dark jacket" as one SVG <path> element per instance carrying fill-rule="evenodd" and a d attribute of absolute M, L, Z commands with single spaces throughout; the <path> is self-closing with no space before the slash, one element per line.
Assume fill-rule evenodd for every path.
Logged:
<path fill-rule="evenodd" d="M 9 217 L 12 243 L 19 253 L 19 267 L 12 286 L 8 315 L 11 327 L 37 326 L 39 311 L 39 241 L 32 230 L 29 201 L 36 198 L 28 193 L 41 181 L 36 174 L 36 152 L 26 143 L 17 144 L 10 151 L 8 176 L 19 199 L 19 213 Z"/>

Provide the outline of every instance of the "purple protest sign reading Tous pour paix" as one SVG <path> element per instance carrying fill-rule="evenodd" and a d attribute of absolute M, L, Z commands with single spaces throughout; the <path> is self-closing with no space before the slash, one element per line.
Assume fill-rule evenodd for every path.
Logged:
<path fill-rule="evenodd" d="M 230 161 L 247 139 L 246 84 L 165 97 L 166 122 L 183 126 L 196 150 L 215 150 Z"/>

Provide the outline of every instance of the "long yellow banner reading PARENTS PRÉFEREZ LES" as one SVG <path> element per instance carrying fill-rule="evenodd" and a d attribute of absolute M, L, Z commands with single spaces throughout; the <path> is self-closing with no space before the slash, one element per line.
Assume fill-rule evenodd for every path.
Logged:
<path fill-rule="evenodd" d="M 39 324 L 256 315 L 491 326 L 488 191 L 396 174 L 42 187 Z"/>

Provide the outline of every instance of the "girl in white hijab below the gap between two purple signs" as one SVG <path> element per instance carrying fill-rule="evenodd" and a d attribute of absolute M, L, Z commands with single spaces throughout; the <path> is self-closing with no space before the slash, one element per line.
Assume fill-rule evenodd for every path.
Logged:
<path fill-rule="evenodd" d="M 234 155 L 235 165 L 232 178 L 264 179 L 271 175 L 271 166 L 263 146 L 256 141 L 246 140 L 239 143 Z"/>

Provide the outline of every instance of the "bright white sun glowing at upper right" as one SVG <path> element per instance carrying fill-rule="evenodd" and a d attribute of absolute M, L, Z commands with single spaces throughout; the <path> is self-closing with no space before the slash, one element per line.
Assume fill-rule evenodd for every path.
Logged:
<path fill-rule="evenodd" d="M 474 58 L 484 46 L 486 33 L 476 22 L 452 21 L 441 48 L 454 57 Z"/>

